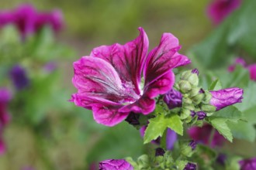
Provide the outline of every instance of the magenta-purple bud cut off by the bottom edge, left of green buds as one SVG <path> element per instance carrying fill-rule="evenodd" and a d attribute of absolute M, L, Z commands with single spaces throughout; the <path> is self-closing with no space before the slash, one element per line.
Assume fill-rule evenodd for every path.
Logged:
<path fill-rule="evenodd" d="M 133 166 L 124 159 L 108 159 L 99 162 L 99 170 L 133 170 Z"/>

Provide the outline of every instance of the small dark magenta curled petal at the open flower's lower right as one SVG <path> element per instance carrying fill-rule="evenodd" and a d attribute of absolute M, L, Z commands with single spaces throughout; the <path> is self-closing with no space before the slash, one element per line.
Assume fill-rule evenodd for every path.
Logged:
<path fill-rule="evenodd" d="M 142 114 L 150 114 L 155 108 L 155 100 L 150 99 L 146 95 L 140 97 L 139 100 L 134 102 L 133 104 L 126 105 L 119 109 L 120 112 L 131 112 L 134 113 L 142 113 Z"/>

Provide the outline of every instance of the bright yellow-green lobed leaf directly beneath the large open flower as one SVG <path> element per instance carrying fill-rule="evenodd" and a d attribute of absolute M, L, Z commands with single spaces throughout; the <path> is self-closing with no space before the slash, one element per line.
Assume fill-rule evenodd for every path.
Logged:
<path fill-rule="evenodd" d="M 180 117 L 177 114 L 165 117 L 164 114 L 158 114 L 149 120 L 144 135 L 144 144 L 161 137 L 166 128 L 171 128 L 177 134 L 183 134 L 183 126 Z"/>

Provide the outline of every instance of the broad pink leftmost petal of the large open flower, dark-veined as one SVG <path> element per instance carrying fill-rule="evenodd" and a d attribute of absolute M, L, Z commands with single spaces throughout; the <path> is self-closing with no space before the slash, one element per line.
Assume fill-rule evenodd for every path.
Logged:
<path fill-rule="evenodd" d="M 123 87 L 116 70 L 105 60 L 83 56 L 74 62 L 74 87 L 88 97 L 101 97 L 118 102 L 123 97 Z"/>

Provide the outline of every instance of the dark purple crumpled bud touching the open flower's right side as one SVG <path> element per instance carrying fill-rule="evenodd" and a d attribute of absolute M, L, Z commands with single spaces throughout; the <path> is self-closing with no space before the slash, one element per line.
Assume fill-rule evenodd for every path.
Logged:
<path fill-rule="evenodd" d="M 169 109 L 182 107 L 182 93 L 171 89 L 168 93 L 164 94 L 164 102 L 168 105 Z"/>

